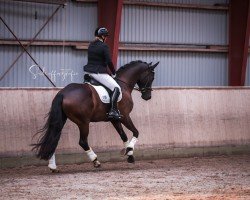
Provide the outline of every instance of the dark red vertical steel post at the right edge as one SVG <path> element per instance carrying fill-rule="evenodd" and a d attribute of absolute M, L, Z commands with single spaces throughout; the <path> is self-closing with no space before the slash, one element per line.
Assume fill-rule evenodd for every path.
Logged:
<path fill-rule="evenodd" d="M 250 0 L 229 5 L 229 85 L 244 86 L 250 34 Z"/>

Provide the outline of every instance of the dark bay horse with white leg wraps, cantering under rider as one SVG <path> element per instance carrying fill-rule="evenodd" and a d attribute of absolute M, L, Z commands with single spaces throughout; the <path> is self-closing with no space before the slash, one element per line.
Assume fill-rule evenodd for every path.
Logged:
<path fill-rule="evenodd" d="M 134 147 L 138 141 L 139 132 L 134 126 L 130 113 L 133 109 L 133 100 L 131 93 L 138 85 L 141 92 L 141 98 L 144 100 L 151 99 L 152 83 L 154 80 L 155 67 L 159 64 L 152 65 L 142 61 L 132 61 L 116 72 L 115 80 L 121 87 L 122 99 L 118 102 L 122 118 L 119 120 L 108 119 L 107 112 L 109 104 L 101 102 L 94 87 L 87 83 L 70 83 L 61 89 L 52 101 L 47 121 L 42 129 L 36 144 L 33 144 L 33 150 L 36 150 L 36 156 L 43 160 L 49 160 L 48 167 L 52 172 L 56 172 L 55 150 L 61 136 L 66 120 L 74 122 L 80 132 L 79 145 L 83 148 L 94 167 L 100 167 L 101 163 L 97 155 L 88 144 L 89 124 L 90 122 L 110 121 L 124 143 L 124 156 L 128 156 L 127 162 L 134 163 Z M 129 141 L 122 125 L 128 128 L 133 137 Z"/>

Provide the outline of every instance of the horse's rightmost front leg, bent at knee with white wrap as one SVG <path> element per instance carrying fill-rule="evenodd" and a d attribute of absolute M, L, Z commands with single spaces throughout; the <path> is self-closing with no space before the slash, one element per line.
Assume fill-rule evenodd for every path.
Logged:
<path fill-rule="evenodd" d="M 128 116 L 127 118 L 125 118 L 122 123 L 124 124 L 124 126 L 129 129 L 130 131 L 132 131 L 133 133 L 133 137 L 130 140 L 130 142 L 127 144 L 126 147 L 126 152 L 125 154 L 128 155 L 128 162 L 130 163 L 134 163 L 134 148 L 135 148 L 135 144 L 138 141 L 138 136 L 139 136 L 139 132 L 138 130 L 135 128 L 131 118 Z"/>

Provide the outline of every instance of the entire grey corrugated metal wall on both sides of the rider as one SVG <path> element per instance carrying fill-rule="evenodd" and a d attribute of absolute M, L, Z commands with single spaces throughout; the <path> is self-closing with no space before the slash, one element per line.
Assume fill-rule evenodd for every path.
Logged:
<path fill-rule="evenodd" d="M 152 1 L 170 3 L 198 3 L 213 5 L 227 0 Z M 0 2 L 0 11 L 7 24 L 21 39 L 32 38 L 56 5 Z M 37 13 L 37 15 L 35 14 Z M 36 17 L 37 16 L 37 17 Z M 69 1 L 42 31 L 41 40 L 89 41 L 97 26 L 97 5 Z M 0 38 L 13 39 L 0 23 Z M 122 13 L 121 42 L 149 42 L 174 44 L 228 43 L 228 15 L 226 11 L 159 8 L 125 5 Z M 0 75 L 21 52 L 20 47 L 0 46 Z M 70 47 L 32 47 L 31 54 L 45 67 L 57 86 L 82 81 L 82 66 L 87 62 L 86 51 Z M 228 83 L 227 54 L 180 53 L 152 51 L 120 51 L 118 66 L 132 60 L 160 61 L 155 86 L 223 86 Z M 47 87 L 45 77 L 36 76 L 30 67 L 34 63 L 24 54 L 14 68 L 0 82 L 2 87 Z M 34 68 L 33 68 L 34 69 Z M 72 70 L 61 79 L 64 69 Z M 55 76 L 54 73 L 57 75 Z M 73 79 L 71 79 L 73 77 Z"/>

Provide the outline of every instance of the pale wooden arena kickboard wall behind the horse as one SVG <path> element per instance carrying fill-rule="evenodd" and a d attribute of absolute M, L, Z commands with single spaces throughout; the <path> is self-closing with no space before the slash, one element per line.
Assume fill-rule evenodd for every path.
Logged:
<path fill-rule="evenodd" d="M 34 158 L 30 144 L 37 141 L 39 135 L 33 135 L 58 91 L 0 89 L 1 167 L 47 164 Z M 150 101 L 134 91 L 131 116 L 140 132 L 135 157 L 250 153 L 249 99 L 250 88 L 158 88 Z M 67 121 L 57 149 L 59 163 L 87 161 L 78 140 L 78 127 Z M 110 123 L 92 123 L 89 144 L 101 161 L 122 159 L 123 144 Z"/>

